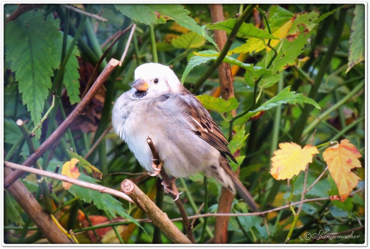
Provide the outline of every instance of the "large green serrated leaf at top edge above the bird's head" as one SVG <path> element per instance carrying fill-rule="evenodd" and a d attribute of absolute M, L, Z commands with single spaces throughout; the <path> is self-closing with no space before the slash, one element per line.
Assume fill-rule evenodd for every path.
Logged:
<path fill-rule="evenodd" d="M 114 4 L 117 10 L 134 21 L 147 25 L 163 24 L 174 20 L 181 27 L 204 36 L 215 47 L 217 44 L 209 35 L 203 33 L 203 28 L 189 17 L 190 11 L 181 4 Z"/>

